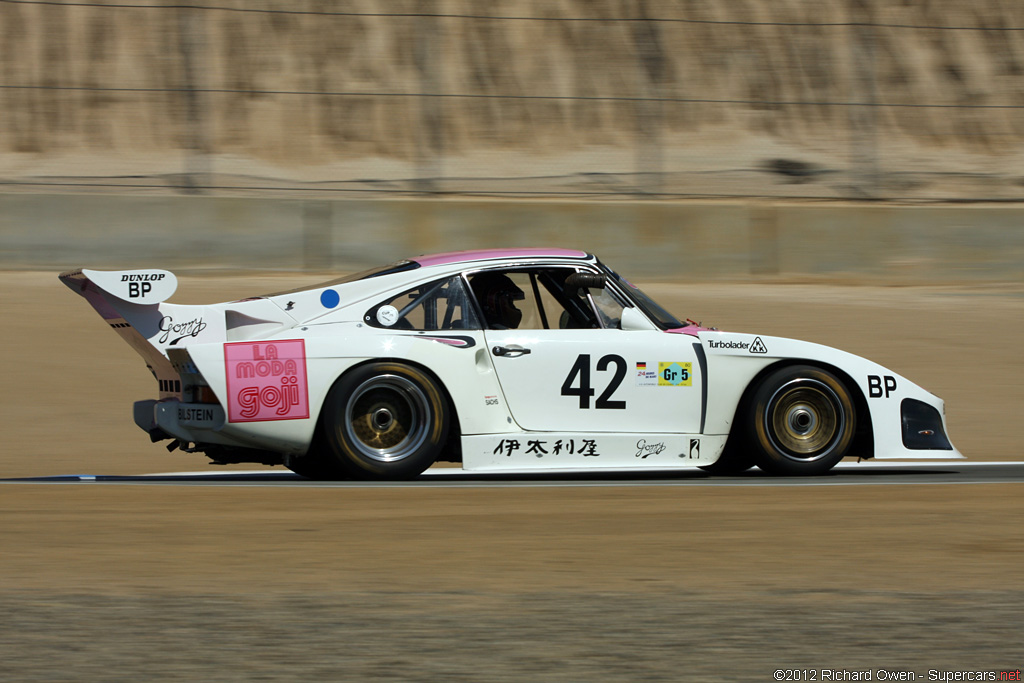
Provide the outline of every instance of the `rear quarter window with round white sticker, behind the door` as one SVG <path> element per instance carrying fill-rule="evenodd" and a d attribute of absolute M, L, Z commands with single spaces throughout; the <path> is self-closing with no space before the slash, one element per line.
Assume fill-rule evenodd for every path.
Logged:
<path fill-rule="evenodd" d="M 394 330 L 479 330 L 480 323 L 462 278 L 438 280 L 402 292 L 367 311 L 375 328 Z"/>

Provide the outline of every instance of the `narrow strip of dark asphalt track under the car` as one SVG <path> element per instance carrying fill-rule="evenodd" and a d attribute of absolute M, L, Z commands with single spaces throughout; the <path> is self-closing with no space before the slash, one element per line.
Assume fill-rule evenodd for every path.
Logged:
<path fill-rule="evenodd" d="M 285 470 L 167 472 L 160 474 L 63 474 L 0 479 L 4 484 L 137 484 L 171 486 L 266 486 L 316 488 L 544 488 L 615 486 L 865 486 L 1024 483 L 1024 462 L 841 463 L 816 477 L 774 477 L 754 469 L 739 476 L 711 476 L 689 468 L 673 471 L 464 472 L 435 468 L 409 481 L 314 481 Z"/>

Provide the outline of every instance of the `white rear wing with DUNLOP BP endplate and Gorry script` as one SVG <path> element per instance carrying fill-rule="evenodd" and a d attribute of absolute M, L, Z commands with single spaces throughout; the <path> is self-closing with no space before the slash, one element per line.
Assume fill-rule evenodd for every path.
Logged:
<path fill-rule="evenodd" d="M 142 356 L 160 383 L 162 397 L 181 390 L 168 349 L 225 339 L 224 311 L 219 307 L 166 303 L 177 289 L 177 279 L 167 270 L 80 268 L 59 278 Z"/>

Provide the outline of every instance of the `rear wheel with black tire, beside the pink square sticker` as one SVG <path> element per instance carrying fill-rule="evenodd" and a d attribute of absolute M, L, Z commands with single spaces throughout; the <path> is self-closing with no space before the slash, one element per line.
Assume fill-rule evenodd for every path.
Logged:
<path fill-rule="evenodd" d="M 423 371 L 371 362 L 343 375 L 328 393 L 324 439 L 353 476 L 410 479 L 430 467 L 447 440 L 444 393 Z"/>

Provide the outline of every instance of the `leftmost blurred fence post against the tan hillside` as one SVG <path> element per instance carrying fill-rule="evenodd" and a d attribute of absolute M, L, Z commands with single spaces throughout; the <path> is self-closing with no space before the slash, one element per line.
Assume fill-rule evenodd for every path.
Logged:
<path fill-rule="evenodd" d="M 196 7 L 179 7 L 178 47 L 181 51 L 184 93 L 184 173 L 182 190 L 200 195 L 210 184 L 210 141 L 206 132 L 206 102 L 203 98 L 203 63 L 206 51 L 205 13 Z"/>

